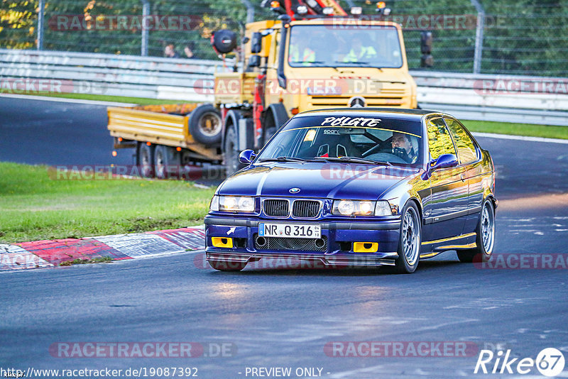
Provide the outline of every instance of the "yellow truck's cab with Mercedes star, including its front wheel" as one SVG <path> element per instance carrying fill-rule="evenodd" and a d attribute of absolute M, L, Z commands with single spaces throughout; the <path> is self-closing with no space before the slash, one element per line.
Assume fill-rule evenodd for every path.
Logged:
<path fill-rule="evenodd" d="M 239 150 L 262 148 L 302 111 L 417 107 L 397 23 L 344 17 L 253 22 L 246 25 L 241 61 L 241 72 L 215 75 L 229 172 L 239 168 Z"/>

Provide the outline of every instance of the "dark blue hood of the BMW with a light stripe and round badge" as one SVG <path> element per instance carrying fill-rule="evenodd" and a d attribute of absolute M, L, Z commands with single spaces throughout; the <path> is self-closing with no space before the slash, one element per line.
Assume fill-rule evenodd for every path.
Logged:
<path fill-rule="evenodd" d="M 264 163 L 228 177 L 218 194 L 376 200 L 389 187 L 419 171 L 346 163 Z M 290 192 L 292 188 L 300 191 Z"/>

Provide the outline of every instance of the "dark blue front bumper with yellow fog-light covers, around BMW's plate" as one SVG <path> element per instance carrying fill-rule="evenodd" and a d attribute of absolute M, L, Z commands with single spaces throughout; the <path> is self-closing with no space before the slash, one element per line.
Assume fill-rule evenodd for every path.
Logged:
<path fill-rule="evenodd" d="M 322 251 L 304 251 L 294 248 L 259 248 L 255 241 L 259 222 L 294 222 L 320 224 L 326 246 Z M 384 221 L 323 221 L 323 220 L 266 220 L 244 219 L 231 216 L 205 217 L 205 252 L 207 260 L 224 260 L 231 263 L 249 263 L 261 258 L 309 260 L 325 267 L 359 267 L 394 265 L 398 258 L 400 219 Z M 212 237 L 234 238 L 233 247 L 218 248 Z M 378 242 L 374 253 L 355 253 L 353 242 Z"/>

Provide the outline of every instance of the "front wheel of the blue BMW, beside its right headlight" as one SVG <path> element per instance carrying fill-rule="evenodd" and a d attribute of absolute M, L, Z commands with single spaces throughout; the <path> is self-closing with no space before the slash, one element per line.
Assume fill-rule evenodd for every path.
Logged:
<path fill-rule="evenodd" d="M 394 272 L 398 274 L 414 273 L 420 261 L 422 245 L 422 224 L 420 212 L 414 202 L 406 203 L 400 218 L 400 238 L 398 240 L 398 258 Z"/>

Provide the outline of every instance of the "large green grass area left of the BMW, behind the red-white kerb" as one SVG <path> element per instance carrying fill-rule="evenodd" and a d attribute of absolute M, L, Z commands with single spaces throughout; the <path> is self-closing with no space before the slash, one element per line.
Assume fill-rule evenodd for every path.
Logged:
<path fill-rule="evenodd" d="M 47 166 L 0 163 L 0 243 L 199 225 L 213 193 L 181 180 L 52 180 Z"/>

